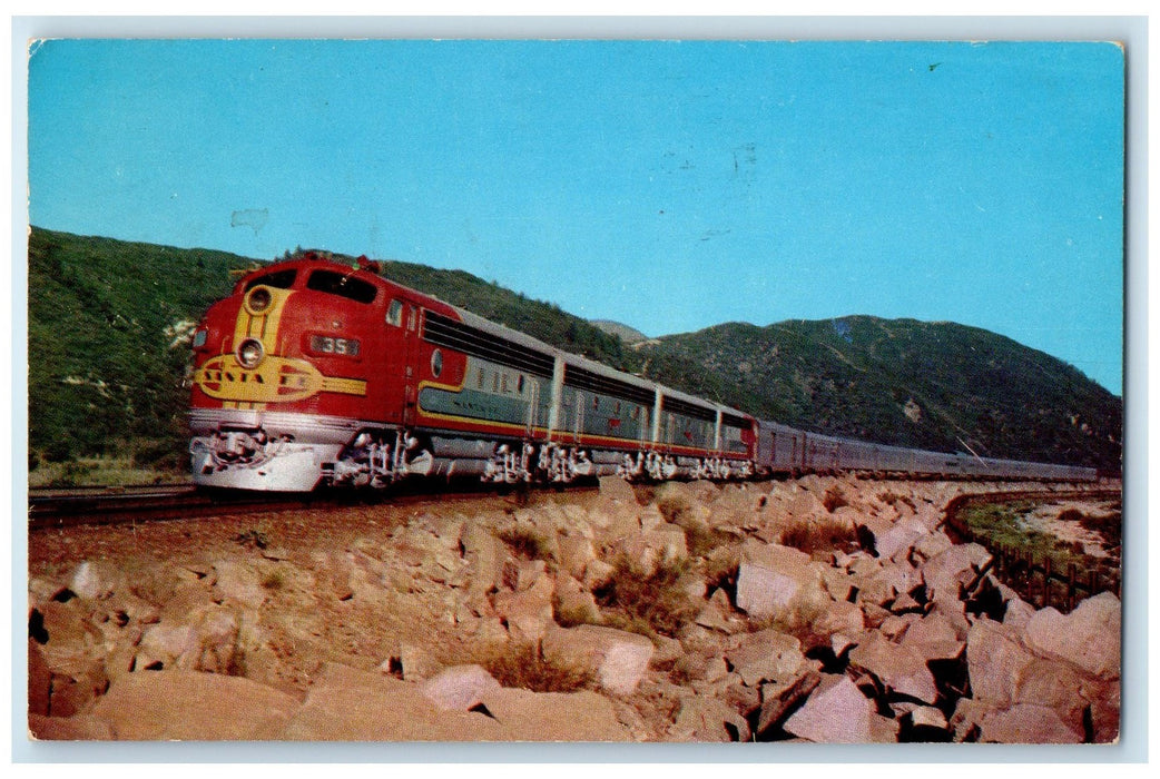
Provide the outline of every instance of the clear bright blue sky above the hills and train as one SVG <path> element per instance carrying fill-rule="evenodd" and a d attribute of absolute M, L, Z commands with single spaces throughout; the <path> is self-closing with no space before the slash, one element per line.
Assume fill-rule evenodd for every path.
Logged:
<path fill-rule="evenodd" d="M 849 314 L 1122 391 L 1099 43 L 50 41 L 30 220 L 443 268 L 648 335 Z"/>

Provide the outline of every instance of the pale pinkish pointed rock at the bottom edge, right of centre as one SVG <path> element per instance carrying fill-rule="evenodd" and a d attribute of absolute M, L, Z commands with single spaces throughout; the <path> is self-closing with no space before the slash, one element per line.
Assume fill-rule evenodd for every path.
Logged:
<path fill-rule="evenodd" d="M 875 713 L 871 700 L 846 676 L 826 674 L 784 728 L 817 743 L 860 744 L 897 740 L 898 723 Z"/>

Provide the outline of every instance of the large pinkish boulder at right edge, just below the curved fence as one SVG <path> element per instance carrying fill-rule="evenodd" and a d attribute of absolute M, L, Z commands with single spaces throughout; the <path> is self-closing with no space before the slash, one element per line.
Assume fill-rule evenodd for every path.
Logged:
<path fill-rule="evenodd" d="M 1049 657 L 1075 663 L 1103 679 L 1119 677 L 1119 598 L 1103 592 L 1087 598 L 1072 613 L 1041 609 L 1027 624 L 1027 643 Z"/>

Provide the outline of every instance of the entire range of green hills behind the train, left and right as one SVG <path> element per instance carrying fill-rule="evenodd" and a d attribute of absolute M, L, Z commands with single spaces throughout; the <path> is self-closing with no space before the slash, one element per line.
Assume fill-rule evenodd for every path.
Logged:
<path fill-rule="evenodd" d="M 289 256 L 289 253 L 288 253 Z M 37 457 L 184 457 L 189 336 L 255 261 L 32 228 L 29 432 Z M 464 271 L 383 275 L 574 354 L 810 430 L 1118 468 L 1123 402 L 1058 359 L 974 328 L 851 316 L 728 323 L 631 348 Z"/>

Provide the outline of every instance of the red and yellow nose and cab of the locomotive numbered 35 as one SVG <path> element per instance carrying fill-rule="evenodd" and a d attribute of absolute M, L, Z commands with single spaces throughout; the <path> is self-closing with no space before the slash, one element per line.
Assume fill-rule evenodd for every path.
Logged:
<path fill-rule="evenodd" d="M 351 444 L 392 449 L 414 412 L 419 311 L 364 259 L 242 278 L 194 336 L 195 482 L 304 492 Z"/>

